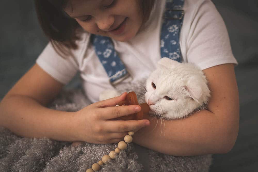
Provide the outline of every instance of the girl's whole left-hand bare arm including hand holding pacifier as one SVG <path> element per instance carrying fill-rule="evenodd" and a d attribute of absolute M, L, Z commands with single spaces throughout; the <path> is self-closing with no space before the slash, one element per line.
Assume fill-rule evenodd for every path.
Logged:
<path fill-rule="evenodd" d="M 89 105 L 78 112 L 44 107 L 59 93 L 62 86 L 35 64 L 1 101 L 0 126 L 24 137 L 90 143 L 116 143 L 123 140 L 127 130 L 146 126 L 144 122 L 147 120 L 129 123 L 109 120 L 140 111 L 137 105 L 115 107 L 116 103 L 125 99 L 125 93 Z"/>

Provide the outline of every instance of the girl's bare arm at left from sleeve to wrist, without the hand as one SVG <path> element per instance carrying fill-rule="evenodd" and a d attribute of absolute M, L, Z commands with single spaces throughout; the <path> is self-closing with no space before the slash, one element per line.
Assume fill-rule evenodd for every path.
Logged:
<path fill-rule="evenodd" d="M 0 126 L 25 137 L 50 137 L 65 140 L 60 124 L 69 112 L 44 107 L 63 84 L 47 75 L 35 64 L 5 95 L 0 103 Z M 68 128 L 69 126 L 67 126 Z"/>

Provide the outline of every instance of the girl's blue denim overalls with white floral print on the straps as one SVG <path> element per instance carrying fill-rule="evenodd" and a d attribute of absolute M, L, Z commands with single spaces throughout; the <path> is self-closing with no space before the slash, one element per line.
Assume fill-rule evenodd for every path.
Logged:
<path fill-rule="evenodd" d="M 182 61 L 179 36 L 183 24 L 183 5 L 184 0 L 166 0 L 160 35 L 161 58 Z M 109 37 L 92 34 L 91 43 L 113 86 L 130 76 Z M 138 153 L 138 161 L 142 163 L 144 171 L 148 171 L 148 149 L 135 144 L 135 151 Z"/>

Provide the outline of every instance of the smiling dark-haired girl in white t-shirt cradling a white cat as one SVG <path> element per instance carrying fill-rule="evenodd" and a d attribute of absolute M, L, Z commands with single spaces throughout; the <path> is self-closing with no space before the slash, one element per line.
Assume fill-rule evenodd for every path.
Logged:
<path fill-rule="evenodd" d="M 234 73 L 237 62 L 225 24 L 210 0 L 184 1 L 179 42 L 182 61 L 197 64 L 208 79 L 212 93 L 208 108 L 183 120 L 165 120 L 164 136 L 160 136 L 159 130 L 152 131 L 157 119 L 111 120 L 141 109 L 137 105 L 115 107 L 126 93 L 98 102 L 99 94 L 115 83 L 107 77 L 102 66 L 106 62 L 98 59 L 90 34 L 111 38 L 130 74 L 119 78 L 121 82 L 139 80 L 149 75 L 160 59 L 160 28 L 166 1 L 35 3 L 50 43 L 1 101 L 0 126 L 24 137 L 99 144 L 118 143 L 127 131 L 133 130 L 137 131 L 135 143 L 177 156 L 225 153 L 232 149 L 239 125 Z M 104 53 L 109 56 L 111 52 Z M 76 71 L 80 71 L 86 95 L 95 103 L 77 112 L 46 108 Z"/>

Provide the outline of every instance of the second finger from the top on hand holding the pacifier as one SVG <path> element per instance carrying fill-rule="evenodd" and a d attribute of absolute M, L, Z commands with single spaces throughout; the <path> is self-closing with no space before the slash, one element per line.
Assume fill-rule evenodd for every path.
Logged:
<path fill-rule="evenodd" d="M 139 105 L 128 105 L 128 106 L 113 106 L 107 107 L 105 109 L 97 109 L 96 113 L 98 114 L 99 119 L 108 120 L 122 117 L 125 115 L 134 114 L 141 111 Z"/>

